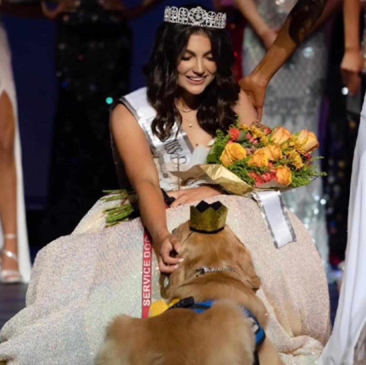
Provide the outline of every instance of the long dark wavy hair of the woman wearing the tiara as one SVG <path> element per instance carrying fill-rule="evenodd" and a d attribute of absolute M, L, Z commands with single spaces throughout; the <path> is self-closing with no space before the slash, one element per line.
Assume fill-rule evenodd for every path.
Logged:
<path fill-rule="evenodd" d="M 218 128 L 227 130 L 235 122 L 232 107 L 239 97 L 240 87 L 232 76 L 234 52 L 224 29 L 163 23 L 157 31 L 153 52 L 144 67 L 147 76 L 147 98 L 157 111 L 151 128 L 160 140 L 172 133 L 175 121 L 182 117 L 175 106 L 178 94 L 177 66 L 192 34 L 205 33 L 211 41 L 212 56 L 217 72 L 206 87 L 197 110 L 197 120 L 203 130 L 214 136 Z"/>

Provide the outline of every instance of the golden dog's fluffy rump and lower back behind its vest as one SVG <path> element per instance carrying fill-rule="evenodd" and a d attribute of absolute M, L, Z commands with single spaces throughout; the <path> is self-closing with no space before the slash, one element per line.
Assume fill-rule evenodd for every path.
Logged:
<path fill-rule="evenodd" d="M 202 314 L 173 309 L 149 319 L 117 317 L 96 365 L 252 365 L 254 348 L 243 310 L 217 301 Z"/>

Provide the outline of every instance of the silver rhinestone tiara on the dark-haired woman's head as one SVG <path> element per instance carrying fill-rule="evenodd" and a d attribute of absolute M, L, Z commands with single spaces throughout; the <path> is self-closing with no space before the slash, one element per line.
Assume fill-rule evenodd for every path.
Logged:
<path fill-rule="evenodd" d="M 200 6 L 190 10 L 167 6 L 164 11 L 164 22 L 223 29 L 226 26 L 226 14 L 206 11 Z"/>

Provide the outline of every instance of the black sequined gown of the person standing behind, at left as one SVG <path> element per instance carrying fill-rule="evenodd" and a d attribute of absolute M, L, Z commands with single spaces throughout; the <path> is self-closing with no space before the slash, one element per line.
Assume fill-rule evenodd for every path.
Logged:
<path fill-rule="evenodd" d="M 82 0 L 57 20 L 59 88 L 44 244 L 71 233 L 102 190 L 117 186 L 105 121 L 108 103 L 129 91 L 131 58 L 131 29 L 120 12 Z"/>

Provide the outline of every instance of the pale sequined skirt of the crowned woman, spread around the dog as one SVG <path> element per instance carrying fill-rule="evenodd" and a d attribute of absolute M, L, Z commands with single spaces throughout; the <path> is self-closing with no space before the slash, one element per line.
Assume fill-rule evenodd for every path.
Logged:
<path fill-rule="evenodd" d="M 276 249 L 258 205 L 220 196 L 227 224 L 250 249 L 269 312 L 267 335 L 285 364 L 314 364 L 329 337 L 328 286 L 309 233 L 289 212 L 298 242 Z M 109 203 L 113 204 L 113 203 Z M 114 203 L 115 204 L 115 203 Z M 27 307 L 0 332 L 0 360 L 14 364 L 91 364 L 105 326 L 126 313 L 141 315 L 143 227 L 139 219 L 104 228 L 98 202 L 75 231 L 37 255 Z M 167 211 L 170 230 L 188 220 L 189 206 Z M 154 265 L 153 299 L 159 299 Z"/>

